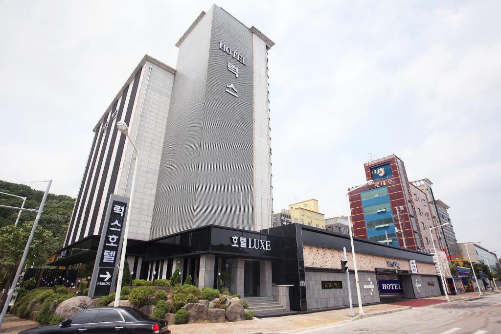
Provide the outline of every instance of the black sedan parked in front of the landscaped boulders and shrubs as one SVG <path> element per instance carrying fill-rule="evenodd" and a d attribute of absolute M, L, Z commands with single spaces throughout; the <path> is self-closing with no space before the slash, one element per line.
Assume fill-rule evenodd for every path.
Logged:
<path fill-rule="evenodd" d="M 58 324 L 23 330 L 39 333 L 170 333 L 167 321 L 153 319 L 132 307 L 94 307 L 65 319 Z"/>

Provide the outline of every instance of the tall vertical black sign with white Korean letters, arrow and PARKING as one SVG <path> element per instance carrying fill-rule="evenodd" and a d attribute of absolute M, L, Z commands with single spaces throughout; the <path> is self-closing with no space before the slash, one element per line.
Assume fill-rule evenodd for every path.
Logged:
<path fill-rule="evenodd" d="M 129 197 L 110 195 L 106 218 L 99 240 L 94 270 L 92 271 L 89 297 L 108 295 L 115 287 L 117 264 L 122 249 L 123 233 L 127 217 Z"/>

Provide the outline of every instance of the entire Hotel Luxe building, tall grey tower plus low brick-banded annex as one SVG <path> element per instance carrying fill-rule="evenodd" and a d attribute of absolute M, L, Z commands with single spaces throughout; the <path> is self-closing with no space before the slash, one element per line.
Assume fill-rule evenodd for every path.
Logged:
<path fill-rule="evenodd" d="M 64 248 L 51 264 L 93 261 L 110 195 L 130 196 L 135 156 L 116 128 L 124 121 L 140 152 L 127 217 L 133 278 L 169 278 L 179 269 L 181 281 L 191 275 L 199 287 L 220 287 L 227 272 L 232 293 L 275 299 L 278 309 L 347 305 L 340 260 L 349 236 L 306 224 L 273 227 L 274 43 L 214 5 L 176 46 L 175 69 L 145 56 L 95 126 Z M 389 293 L 377 275 L 397 277 L 385 287 L 400 287 L 391 293 L 404 297 L 441 293 L 431 255 L 362 238 L 355 248 L 364 303 Z"/>

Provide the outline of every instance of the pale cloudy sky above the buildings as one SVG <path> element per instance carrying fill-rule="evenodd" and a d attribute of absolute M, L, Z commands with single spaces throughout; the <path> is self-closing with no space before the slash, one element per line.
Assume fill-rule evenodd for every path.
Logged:
<path fill-rule="evenodd" d="M 0 179 L 76 196 L 92 128 L 144 54 L 210 1 L 0 1 Z M 274 210 L 347 214 L 390 154 L 450 206 L 459 242 L 501 239 L 501 2 L 220 1 L 269 51 Z M 30 183 L 44 189 L 40 183 Z M 501 247 L 499 247 L 501 252 Z"/>

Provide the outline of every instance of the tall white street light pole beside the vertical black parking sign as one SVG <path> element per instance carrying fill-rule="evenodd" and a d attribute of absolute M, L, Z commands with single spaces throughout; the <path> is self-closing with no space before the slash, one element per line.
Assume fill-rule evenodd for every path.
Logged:
<path fill-rule="evenodd" d="M 136 176 L 137 176 L 137 169 L 139 167 L 139 151 L 137 150 L 136 144 L 132 141 L 132 139 L 129 136 L 129 129 L 127 127 L 127 124 L 125 122 L 117 122 L 117 128 L 118 131 L 123 133 L 129 142 L 131 143 L 132 147 L 134 148 L 134 152 L 136 152 L 136 162 L 134 164 L 134 174 L 132 174 L 132 187 L 130 188 L 130 199 L 129 199 L 129 207 L 127 208 L 127 217 L 129 218 L 129 221 L 125 223 L 125 228 L 124 228 L 124 240 L 122 243 L 122 251 L 120 252 L 120 266 L 118 267 L 118 278 L 117 278 L 117 289 L 115 291 L 115 302 L 113 304 L 114 307 L 118 307 L 120 303 L 120 292 L 122 290 L 122 277 L 124 274 L 124 263 L 125 263 L 125 251 L 127 250 L 127 238 L 129 236 L 129 225 L 130 221 L 132 219 L 132 205 L 133 205 L 133 200 L 134 200 L 134 191 L 136 189 Z"/>

